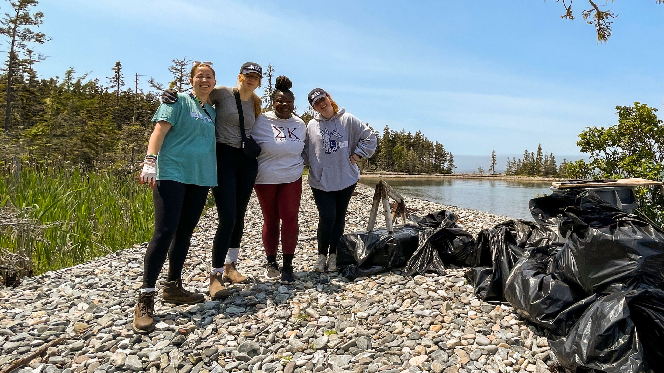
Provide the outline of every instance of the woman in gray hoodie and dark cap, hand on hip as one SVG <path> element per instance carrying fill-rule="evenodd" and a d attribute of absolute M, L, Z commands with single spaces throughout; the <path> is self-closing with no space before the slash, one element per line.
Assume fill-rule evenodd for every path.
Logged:
<path fill-rule="evenodd" d="M 346 210 L 360 179 L 357 162 L 376 151 L 376 135 L 368 125 L 337 103 L 321 88 L 307 96 L 318 112 L 307 124 L 305 153 L 309 157 L 309 186 L 318 208 L 318 259 L 314 271 L 337 271 L 337 242 L 343 234 Z M 329 257 L 328 257 L 329 254 Z"/>

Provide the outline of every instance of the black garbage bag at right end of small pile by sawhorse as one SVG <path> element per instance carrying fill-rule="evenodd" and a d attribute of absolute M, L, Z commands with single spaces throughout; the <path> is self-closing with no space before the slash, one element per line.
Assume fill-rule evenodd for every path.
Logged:
<path fill-rule="evenodd" d="M 445 273 L 445 264 L 472 267 L 477 265 L 475 239 L 459 228 L 434 228 L 420 233 L 420 246 L 404 267 L 404 275 L 428 271 Z"/>

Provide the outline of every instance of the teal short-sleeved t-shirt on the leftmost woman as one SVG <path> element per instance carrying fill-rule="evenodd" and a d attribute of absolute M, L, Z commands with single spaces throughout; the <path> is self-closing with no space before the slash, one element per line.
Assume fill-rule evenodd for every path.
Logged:
<path fill-rule="evenodd" d="M 203 111 L 188 94 L 177 94 L 175 104 L 161 104 L 152 117 L 171 123 L 157 154 L 157 180 L 216 187 L 214 108 Z"/>

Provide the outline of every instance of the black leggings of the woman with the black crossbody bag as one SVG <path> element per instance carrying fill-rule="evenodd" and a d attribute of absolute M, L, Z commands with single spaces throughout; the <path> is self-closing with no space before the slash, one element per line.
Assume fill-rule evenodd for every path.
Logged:
<path fill-rule="evenodd" d="M 216 143 L 217 187 L 212 188 L 219 225 L 212 242 L 212 267 L 223 267 L 228 248 L 239 248 L 244 230 L 244 214 L 258 173 L 256 159 L 248 159 L 242 149 Z"/>

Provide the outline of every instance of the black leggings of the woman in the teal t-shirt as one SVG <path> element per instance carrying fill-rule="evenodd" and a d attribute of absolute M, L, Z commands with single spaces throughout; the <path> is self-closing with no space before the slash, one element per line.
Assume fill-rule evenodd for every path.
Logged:
<path fill-rule="evenodd" d="M 155 287 L 168 254 L 168 281 L 179 279 L 185 265 L 191 234 L 199 223 L 210 187 L 157 180 L 152 189 L 155 201 L 155 232 L 145 250 L 143 288 Z"/>

